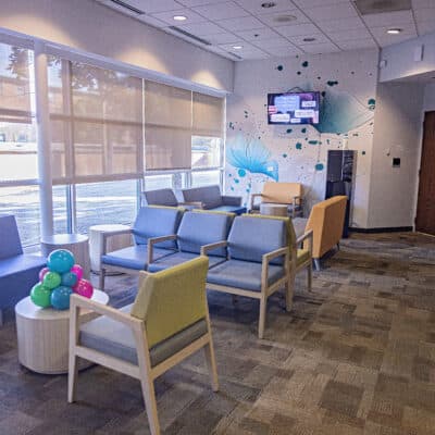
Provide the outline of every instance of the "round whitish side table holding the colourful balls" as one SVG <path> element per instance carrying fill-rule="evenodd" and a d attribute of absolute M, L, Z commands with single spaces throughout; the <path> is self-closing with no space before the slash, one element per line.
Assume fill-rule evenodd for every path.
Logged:
<path fill-rule="evenodd" d="M 95 289 L 92 300 L 107 304 L 109 296 Z M 95 316 L 95 313 L 82 310 L 80 320 Z M 15 306 L 15 319 L 20 363 L 37 373 L 67 373 L 70 310 L 39 308 L 27 297 Z M 91 364 L 79 359 L 78 369 Z"/>

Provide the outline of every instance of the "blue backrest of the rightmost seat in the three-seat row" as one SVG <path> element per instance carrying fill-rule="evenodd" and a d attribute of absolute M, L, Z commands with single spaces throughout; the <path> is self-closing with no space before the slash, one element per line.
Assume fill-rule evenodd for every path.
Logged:
<path fill-rule="evenodd" d="M 282 220 L 237 216 L 228 235 L 228 253 L 232 259 L 261 263 L 264 253 L 284 248 L 287 226 Z M 282 264 L 277 258 L 273 264 Z"/>

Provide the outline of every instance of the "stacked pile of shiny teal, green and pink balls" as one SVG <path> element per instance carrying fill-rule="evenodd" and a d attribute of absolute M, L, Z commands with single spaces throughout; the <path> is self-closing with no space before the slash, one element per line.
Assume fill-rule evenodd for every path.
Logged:
<path fill-rule="evenodd" d="M 83 268 L 75 264 L 72 252 L 57 249 L 48 256 L 47 268 L 40 270 L 39 283 L 33 286 L 30 299 L 41 308 L 67 310 L 73 293 L 90 299 L 92 284 L 83 279 Z"/>

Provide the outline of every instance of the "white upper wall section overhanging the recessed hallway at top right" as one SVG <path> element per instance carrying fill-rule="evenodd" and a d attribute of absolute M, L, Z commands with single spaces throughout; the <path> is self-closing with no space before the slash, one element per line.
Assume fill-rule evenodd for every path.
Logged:
<path fill-rule="evenodd" d="M 420 46 L 423 46 L 423 60 L 415 62 L 414 51 Z M 435 71 L 435 34 L 385 47 L 382 49 L 381 60 L 386 61 L 386 66 L 380 71 L 380 82 Z"/>

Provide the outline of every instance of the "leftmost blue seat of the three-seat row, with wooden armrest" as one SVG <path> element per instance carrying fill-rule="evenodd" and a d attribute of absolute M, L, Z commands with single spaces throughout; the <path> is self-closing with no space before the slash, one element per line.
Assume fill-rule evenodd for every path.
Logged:
<path fill-rule="evenodd" d="M 174 235 L 177 232 L 182 215 L 183 210 L 177 208 L 142 207 L 132 228 L 103 235 L 100 289 L 104 289 L 104 277 L 108 270 L 134 275 L 138 275 L 140 271 L 146 271 L 149 263 L 148 244 L 153 238 L 158 238 L 158 241 L 153 244 L 154 258 L 173 253 L 177 248 Z M 132 234 L 134 246 L 107 252 L 108 238 L 120 234 Z"/>

